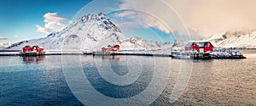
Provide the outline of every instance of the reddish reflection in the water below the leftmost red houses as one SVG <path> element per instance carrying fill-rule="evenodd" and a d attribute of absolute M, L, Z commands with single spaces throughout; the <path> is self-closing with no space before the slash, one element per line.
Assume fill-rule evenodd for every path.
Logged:
<path fill-rule="evenodd" d="M 38 64 L 44 61 L 45 56 L 23 56 L 24 64 Z"/>

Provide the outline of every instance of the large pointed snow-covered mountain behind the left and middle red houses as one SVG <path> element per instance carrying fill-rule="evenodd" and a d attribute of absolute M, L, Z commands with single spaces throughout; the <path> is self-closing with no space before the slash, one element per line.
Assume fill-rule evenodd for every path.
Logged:
<path fill-rule="evenodd" d="M 88 14 L 65 29 L 49 36 L 17 42 L 7 49 L 19 50 L 26 45 L 38 45 L 46 50 L 99 51 L 102 47 L 119 44 L 122 50 L 151 50 L 172 47 L 170 42 L 148 42 L 139 37 L 127 38 L 106 14 Z"/>

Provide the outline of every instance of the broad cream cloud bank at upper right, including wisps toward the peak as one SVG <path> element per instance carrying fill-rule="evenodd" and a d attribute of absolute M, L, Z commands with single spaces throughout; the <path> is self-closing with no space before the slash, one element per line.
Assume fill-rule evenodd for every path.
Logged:
<path fill-rule="evenodd" d="M 189 29 L 192 35 L 200 35 L 203 37 L 222 33 L 224 31 L 248 31 L 256 30 L 256 4 L 255 0 L 122 0 L 119 9 L 137 8 L 146 10 L 146 12 L 154 13 L 157 17 L 170 17 L 173 14 L 166 14 L 170 8 L 160 2 L 171 6 L 183 20 L 184 26 Z M 164 10 L 166 9 L 166 10 Z M 164 10 L 164 11 L 160 11 Z M 122 13 L 119 16 L 135 17 L 135 14 Z M 138 20 L 148 23 L 149 26 L 154 26 L 160 31 L 166 31 L 165 25 L 150 20 L 147 16 L 141 17 Z M 177 20 L 172 20 L 172 23 L 167 23 L 168 26 L 173 26 L 172 31 L 180 31 Z"/>

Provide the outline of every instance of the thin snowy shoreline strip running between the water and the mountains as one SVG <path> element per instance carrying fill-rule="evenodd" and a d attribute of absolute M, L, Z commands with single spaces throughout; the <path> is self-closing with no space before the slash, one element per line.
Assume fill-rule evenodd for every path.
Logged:
<path fill-rule="evenodd" d="M 239 49 L 234 49 L 239 50 Z M 242 49 L 241 49 L 242 50 Z M 0 56 L 22 56 L 21 51 L 9 51 L 9 50 L 0 50 Z M 187 53 L 173 53 L 172 51 L 164 51 L 164 50 L 143 50 L 143 51 L 134 51 L 134 50 L 125 50 L 119 51 L 117 53 L 109 53 L 102 54 L 102 52 L 96 52 L 100 54 L 95 54 L 95 52 L 90 51 L 61 51 L 61 50 L 46 50 L 43 55 L 134 55 L 134 56 L 157 56 L 157 57 L 172 57 L 174 59 L 191 59 L 191 56 L 188 57 Z M 178 55 L 179 54 L 179 55 Z M 184 55 L 185 54 L 185 55 Z M 194 59 L 246 59 L 241 53 L 232 51 L 222 51 L 222 49 L 218 51 L 214 51 L 209 53 L 210 57 L 208 58 L 195 58 Z M 192 54 L 189 54 L 192 55 Z"/>

